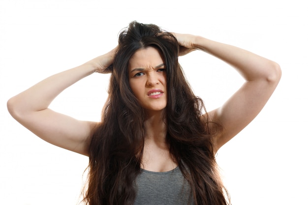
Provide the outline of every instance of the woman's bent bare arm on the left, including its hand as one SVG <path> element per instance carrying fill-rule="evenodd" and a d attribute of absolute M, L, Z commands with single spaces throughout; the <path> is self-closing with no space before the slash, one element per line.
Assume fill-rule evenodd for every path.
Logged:
<path fill-rule="evenodd" d="M 65 88 L 94 72 L 104 73 L 113 61 L 115 50 L 50 76 L 10 98 L 7 102 L 9 113 L 43 140 L 88 155 L 89 138 L 97 122 L 77 120 L 54 112 L 48 106 Z"/>

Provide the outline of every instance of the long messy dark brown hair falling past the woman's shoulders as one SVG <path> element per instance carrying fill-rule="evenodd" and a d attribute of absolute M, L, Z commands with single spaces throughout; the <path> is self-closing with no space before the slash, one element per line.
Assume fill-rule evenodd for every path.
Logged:
<path fill-rule="evenodd" d="M 202 100 L 195 96 L 178 62 L 179 44 L 171 33 L 153 24 L 131 22 L 119 35 L 111 71 L 108 99 L 101 123 L 89 147 L 87 205 L 133 205 L 135 179 L 141 172 L 146 114 L 130 89 L 128 64 L 142 48 L 161 52 L 167 77 L 166 139 L 170 153 L 191 188 L 195 205 L 226 205 L 215 159 L 212 128 Z M 207 116 L 207 115 L 205 115 Z M 228 196 L 228 194 L 227 194 Z M 228 196 L 229 198 L 229 196 Z"/>

